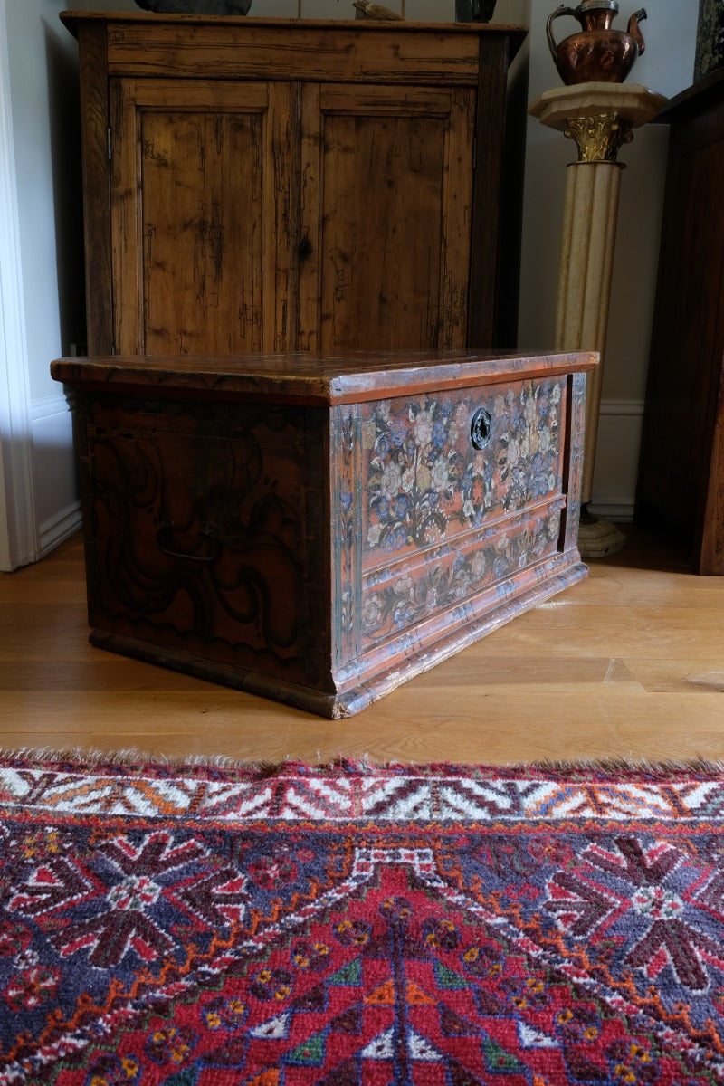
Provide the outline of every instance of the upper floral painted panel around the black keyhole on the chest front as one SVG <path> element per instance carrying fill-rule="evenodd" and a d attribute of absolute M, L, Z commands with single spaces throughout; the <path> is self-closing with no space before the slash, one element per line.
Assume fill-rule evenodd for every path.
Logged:
<path fill-rule="evenodd" d="M 560 487 L 561 382 L 382 401 L 363 420 L 368 457 L 366 545 L 396 554 L 478 528 L 486 516 L 521 509 Z M 475 450 L 470 420 L 492 417 Z"/>

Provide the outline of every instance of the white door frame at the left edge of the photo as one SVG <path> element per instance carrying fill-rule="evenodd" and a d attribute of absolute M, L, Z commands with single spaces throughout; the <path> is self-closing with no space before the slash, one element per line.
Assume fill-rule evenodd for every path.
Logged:
<path fill-rule="evenodd" d="M 0 570 L 39 557 L 5 0 L 0 0 Z"/>

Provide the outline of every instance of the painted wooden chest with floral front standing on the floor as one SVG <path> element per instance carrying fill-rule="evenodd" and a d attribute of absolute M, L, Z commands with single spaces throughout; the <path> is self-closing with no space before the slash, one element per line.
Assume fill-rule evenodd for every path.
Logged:
<path fill-rule="evenodd" d="M 91 640 L 330 717 L 585 576 L 592 354 L 60 359 Z"/>

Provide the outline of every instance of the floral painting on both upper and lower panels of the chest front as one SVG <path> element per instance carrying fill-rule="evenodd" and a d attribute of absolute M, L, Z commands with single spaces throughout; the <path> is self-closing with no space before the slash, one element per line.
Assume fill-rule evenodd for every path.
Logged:
<path fill-rule="evenodd" d="M 379 642 L 461 605 L 556 550 L 562 390 L 563 379 L 520 381 L 363 406 L 364 639 Z M 471 419 L 481 407 L 490 437 L 475 449 Z M 524 523 L 491 530 L 536 505 Z M 423 565 L 402 564 L 422 550 Z"/>

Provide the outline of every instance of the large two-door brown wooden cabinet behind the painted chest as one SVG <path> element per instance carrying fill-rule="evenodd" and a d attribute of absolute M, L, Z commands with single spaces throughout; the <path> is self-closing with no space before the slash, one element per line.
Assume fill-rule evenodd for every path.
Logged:
<path fill-rule="evenodd" d="M 515 344 L 520 28 L 62 17 L 90 353 Z"/>

